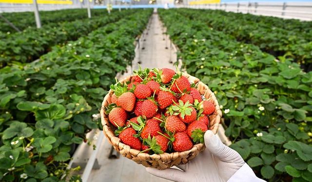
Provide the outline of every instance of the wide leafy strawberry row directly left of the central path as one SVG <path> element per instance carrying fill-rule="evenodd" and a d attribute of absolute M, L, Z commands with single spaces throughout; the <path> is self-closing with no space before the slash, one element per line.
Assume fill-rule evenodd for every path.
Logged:
<path fill-rule="evenodd" d="M 77 181 L 67 169 L 76 144 L 101 127 L 102 97 L 135 56 L 150 10 L 55 47 L 38 62 L 0 69 L 0 181 Z"/>

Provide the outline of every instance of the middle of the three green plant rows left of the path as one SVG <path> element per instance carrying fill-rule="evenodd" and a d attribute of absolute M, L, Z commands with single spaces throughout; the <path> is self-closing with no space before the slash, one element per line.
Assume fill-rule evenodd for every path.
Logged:
<path fill-rule="evenodd" d="M 107 23 L 124 17 L 129 12 L 116 12 L 110 16 L 46 25 L 40 29 L 28 28 L 0 40 L 0 67 L 32 62 L 57 44 L 76 40 Z M 107 14 L 108 15 L 108 14 Z"/>

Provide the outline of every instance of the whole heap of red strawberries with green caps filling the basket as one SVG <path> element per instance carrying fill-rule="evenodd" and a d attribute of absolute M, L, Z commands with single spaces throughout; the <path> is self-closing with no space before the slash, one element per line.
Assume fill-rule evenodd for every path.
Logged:
<path fill-rule="evenodd" d="M 115 134 L 132 149 L 150 154 L 186 151 L 204 142 L 215 105 L 194 83 L 172 69 L 139 69 L 128 83 L 111 85 L 105 107 Z"/>

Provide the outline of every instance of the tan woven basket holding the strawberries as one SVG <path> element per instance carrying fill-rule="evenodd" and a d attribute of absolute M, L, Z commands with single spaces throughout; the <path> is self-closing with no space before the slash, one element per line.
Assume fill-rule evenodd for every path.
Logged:
<path fill-rule="evenodd" d="M 209 116 L 210 126 L 209 130 L 212 130 L 215 134 L 218 130 L 219 122 L 222 116 L 218 101 L 215 98 L 215 94 L 209 89 L 207 85 L 200 82 L 196 77 L 189 74 L 183 73 L 183 75 L 188 78 L 191 83 L 197 83 L 197 89 L 201 95 L 204 95 L 206 99 L 210 99 L 215 105 L 215 113 Z M 130 81 L 131 76 L 123 79 L 120 83 L 125 83 Z M 203 144 L 196 144 L 192 149 L 183 152 L 173 152 L 173 153 L 163 153 L 163 154 L 147 154 L 140 153 L 139 150 L 130 149 L 130 146 L 121 143 L 120 139 L 114 134 L 114 127 L 108 120 L 108 115 L 104 112 L 104 107 L 111 104 L 111 96 L 113 91 L 110 90 L 109 93 L 104 97 L 102 102 L 102 107 L 100 110 L 101 122 L 103 125 L 103 132 L 108 139 L 108 142 L 112 144 L 114 149 L 116 149 L 121 155 L 127 157 L 137 164 L 142 164 L 145 167 L 154 167 L 157 169 L 167 169 L 174 165 L 186 164 L 189 160 L 193 159 L 200 151 L 205 149 Z"/>

